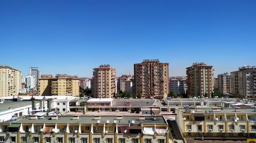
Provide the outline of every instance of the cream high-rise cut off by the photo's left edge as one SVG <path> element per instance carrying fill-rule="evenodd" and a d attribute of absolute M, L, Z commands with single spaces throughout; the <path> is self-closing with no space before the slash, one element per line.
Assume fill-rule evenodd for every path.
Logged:
<path fill-rule="evenodd" d="M 22 72 L 8 66 L 0 66 L 0 97 L 18 95 L 20 89 Z"/>

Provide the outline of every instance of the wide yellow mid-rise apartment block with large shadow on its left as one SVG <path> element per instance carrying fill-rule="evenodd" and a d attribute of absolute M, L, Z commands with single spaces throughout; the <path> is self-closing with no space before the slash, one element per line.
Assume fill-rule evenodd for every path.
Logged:
<path fill-rule="evenodd" d="M 79 79 L 77 76 L 57 74 L 55 77 L 39 79 L 41 96 L 79 96 Z"/>

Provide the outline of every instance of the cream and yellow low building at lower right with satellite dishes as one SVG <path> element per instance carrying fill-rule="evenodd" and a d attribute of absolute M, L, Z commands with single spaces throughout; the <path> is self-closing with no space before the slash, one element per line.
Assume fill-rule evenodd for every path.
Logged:
<path fill-rule="evenodd" d="M 256 111 L 252 108 L 184 108 L 176 113 L 176 122 L 185 138 L 246 140 L 256 137 Z"/>

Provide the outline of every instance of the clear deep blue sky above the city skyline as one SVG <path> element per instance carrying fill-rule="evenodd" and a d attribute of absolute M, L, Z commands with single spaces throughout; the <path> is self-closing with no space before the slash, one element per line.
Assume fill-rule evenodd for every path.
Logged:
<path fill-rule="evenodd" d="M 143 59 L 194 62 L 218 73 L 256 65 L 256 1 L 0 1 L 0 65 L 91 77 L 110 64 L 133 73 Z"/>

